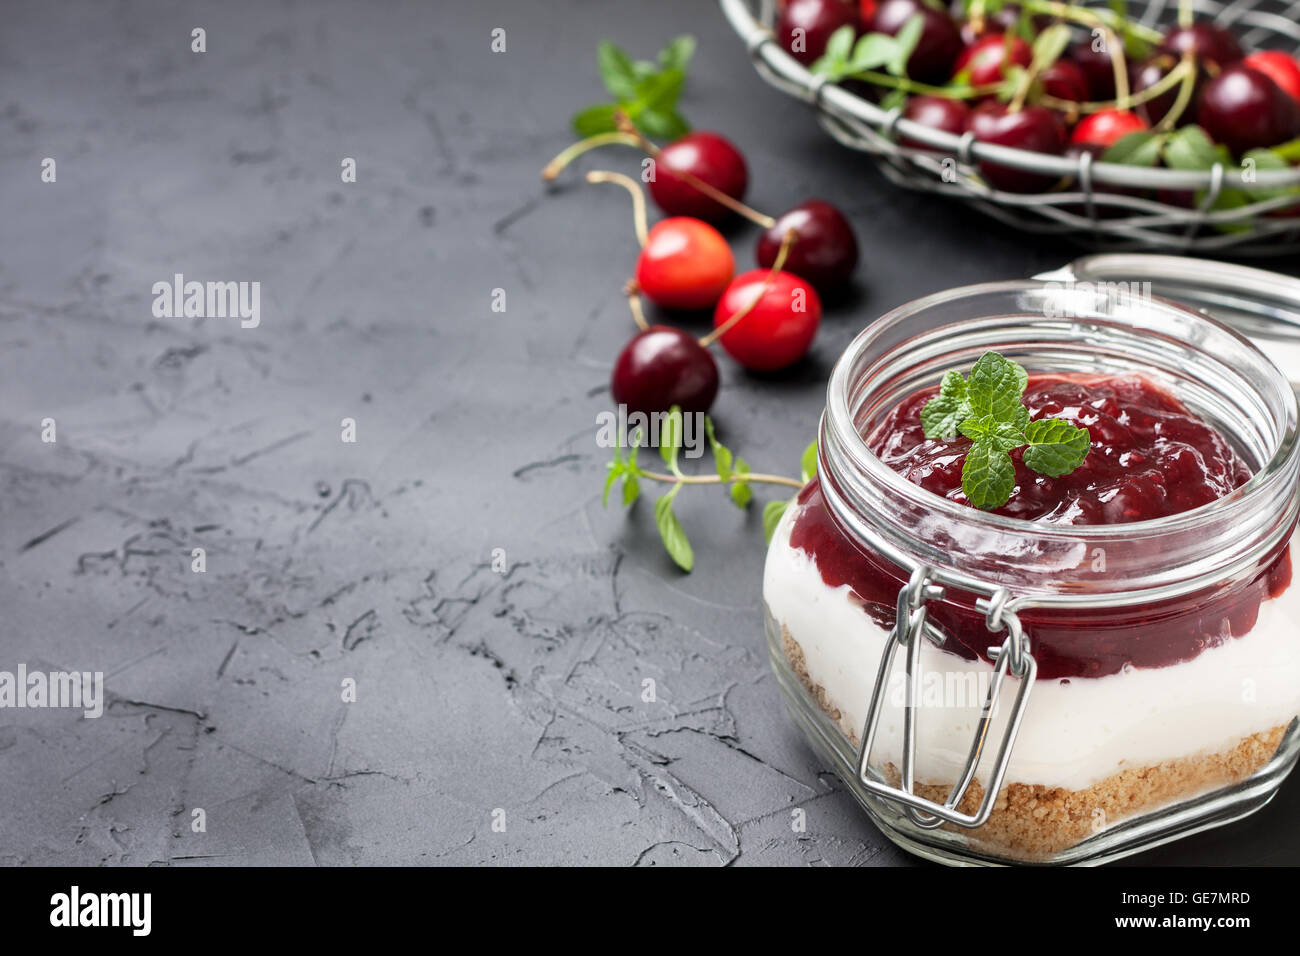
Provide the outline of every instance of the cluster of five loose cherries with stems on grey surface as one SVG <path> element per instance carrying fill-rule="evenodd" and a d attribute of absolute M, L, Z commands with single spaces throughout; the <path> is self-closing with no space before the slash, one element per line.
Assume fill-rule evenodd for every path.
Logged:
<path fill-rule="evenodd" d="M 807 352 L 822 320 L 822 299 L 853 276 L 858 243 L 848 219 L 820 199 L 800 203 L 777 217 L 741 199 L 749 185 L 745 159 L 728 139 L 693 131 L 658 147 L 627 117 L 624 135 L 647 155 L 642 181 L 666 219 L 645 226 L 640 183 L 593 170 L 589 182 L 616 182 L 632 194 L 641 252 L 627 284 L 640 332 L 614 363 L 611 392 L 629 412 L 660 412 L 679 406 L 703 412 L 718 394 L 714 342 L 745 368 L 786 368 Z M 593 137 L 556 156 L 542 177 L 552 179 L 575 156 L 615 137 Z M 630 144 L 629 143 L 629 144 Z M 762 228 L 754 250 L 758 268 L 736 274 L 731 246 L 718 230 L 744 216 Z M 667 324 L 646 323 L 641 297 L 659 310 L 682 313 L 712 310 L 712 330 L 697 338 Z"/>

